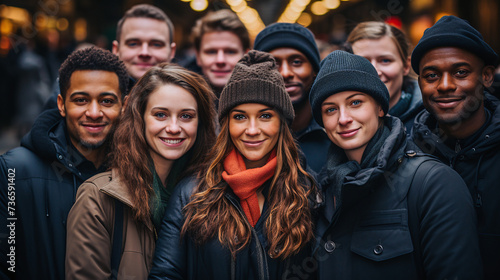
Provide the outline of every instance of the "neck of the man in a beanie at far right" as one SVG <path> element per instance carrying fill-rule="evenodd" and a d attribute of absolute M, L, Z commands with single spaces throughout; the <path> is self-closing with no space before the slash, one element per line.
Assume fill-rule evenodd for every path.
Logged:
<path fill-rule="evenodd" d="M 478 131 L 483 124 L 486 122 L 486 112 L 484 111 L 484 105 L 466 120 L 461 120 L 454 124 L 442 124 L 439 123 L 439 127 L 444 131 L 446 135 L 457 139 L 465 139 Z"/>

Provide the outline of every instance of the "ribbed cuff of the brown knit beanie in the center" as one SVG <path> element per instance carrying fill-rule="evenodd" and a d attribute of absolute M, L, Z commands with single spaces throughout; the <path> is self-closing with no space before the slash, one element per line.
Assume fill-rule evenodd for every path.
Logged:
<path fill-rule="evenodd" d="M 281 91 L 277 94 L 277 91 Z M 240 80 L 231 82 L 224 87 L 221 96 L 225 98 L 219 103 L 219 122 L 236 106 L 245 103 L 259 103 L 280 111 L 289 124 L 292 123 L 295 113 L 292 102 L 285 88 L 276 83 L 261 79 Z"/>

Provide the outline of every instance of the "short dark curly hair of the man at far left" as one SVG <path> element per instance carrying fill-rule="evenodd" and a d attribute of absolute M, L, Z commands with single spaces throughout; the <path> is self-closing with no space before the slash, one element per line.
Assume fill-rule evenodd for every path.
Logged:
<path fill-rule="evenodd" d="M 79 70 L 114 72 L 118 76 L 122 98 L 127 94 L 129 76 L 123 62 L 108 50 L 90 47 L 71 53 L 59 68 L 59 89 L 63 99 L 70 87 L 71 75 Z"/>

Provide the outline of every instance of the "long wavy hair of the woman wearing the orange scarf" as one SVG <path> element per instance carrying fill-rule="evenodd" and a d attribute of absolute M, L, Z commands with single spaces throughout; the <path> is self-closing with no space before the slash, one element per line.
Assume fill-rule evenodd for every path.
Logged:
<path fill-rule="evenodd" d="M 314 180 L 301 167 L 299 152 L 289 126 L 280 114 L 277 166 L 267 202 L 265 222 L 269 255 L 285 259 L 303 248 L 313 237 L 308 196 L 316 192 Z M 223 161 L 234 148 L 229 134 L 229 116 L 222 119 L 221 132 L 210 152 L 206 175 L 200 180 L 191 202 L 184 208 L 186 222 L 181 236 L 189 235 L 198 244 L 217 236 L 233 257 L 251 239 L 251 225 L 225 197 L 229 185 L 222 179 Z"/>

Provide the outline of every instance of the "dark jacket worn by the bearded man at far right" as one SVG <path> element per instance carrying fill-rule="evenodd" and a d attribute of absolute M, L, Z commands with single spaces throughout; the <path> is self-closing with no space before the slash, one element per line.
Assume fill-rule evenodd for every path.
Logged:
<path fill-rule="evenodd" d="M 484 105 L 489 124 L 458 152 L 444 143 L 446 135 L 436 133 L 436 119 L 427 111 L 417 116 L 412 139 L 464 179 L 477 213 L 485 279 L 500 279 L 500 101 L 486 94 Z"/>

